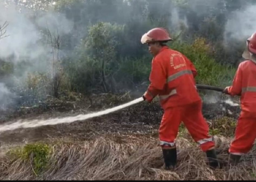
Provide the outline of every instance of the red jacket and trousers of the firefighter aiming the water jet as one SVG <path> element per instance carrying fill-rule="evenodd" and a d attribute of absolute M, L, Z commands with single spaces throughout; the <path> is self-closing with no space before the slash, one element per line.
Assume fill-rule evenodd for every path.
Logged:
<path fill-rule="evenodd" d="M 215 145 L 213 138 L 208 135 L 208 124 L 202 115 L 202 100 L 194 79 L 196 75 L 197 71 L 191 61 L 167 46 L 152 60 L 151 83 L 144 97 L 151 102 L 159 95 L 164 110 L 159 127 L 161 146 L 175 146 L 174 140 L 181 121 L 203 151 Z"/>

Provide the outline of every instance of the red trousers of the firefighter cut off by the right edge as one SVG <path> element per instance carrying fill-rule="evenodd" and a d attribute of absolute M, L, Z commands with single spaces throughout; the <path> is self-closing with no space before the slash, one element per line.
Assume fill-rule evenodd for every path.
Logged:
<path fill-rule="evenodd" d="M 256 113 L 242 111 L 235 131 L 235 138 L 229 147 L 229 153 L 242 155 L 248 153 L 256 138 Z"/>

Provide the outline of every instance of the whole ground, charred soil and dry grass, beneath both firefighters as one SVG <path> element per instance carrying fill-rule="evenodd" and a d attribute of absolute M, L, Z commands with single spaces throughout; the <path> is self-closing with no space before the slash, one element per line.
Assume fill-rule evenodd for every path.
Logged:
<path fill-rule="evenodd" d="M 49 103 L 2 113 L 1 122 L 87 114 L 129 100 L 133 99 L 128 94 L 93 95 L 68 102 L 53 99 Z M 162 151 L 157 145 L 163 111 L 155 100 L 151 104 L 141 102 L 108 115 L 70 124 L 0 132 L 0 179 L 255 180 L 255 149 L 242 158 L 237 168 L 227 166 L 230 137 L 234 134 L 240 108 L 221 100 L 212 102 L 204 98 L 202 108 L 210 126 L 210 135 L 215 135 L 221 169 L 211 170 L 208 167 L 206 155 L 196 147 L 181 124 L 177 137 L 177 169 L 163 170 Z M 50 144 L 48 155 L 41 154 L 47 147 L 37 144 L 6 153 L 16 145 L 20 149 L 20 146 L 35 141 Z M 26 159 L 24 153 L 28 155 Z M 35 172 L 34 169 L 38 168 L 40 171 Z"/>

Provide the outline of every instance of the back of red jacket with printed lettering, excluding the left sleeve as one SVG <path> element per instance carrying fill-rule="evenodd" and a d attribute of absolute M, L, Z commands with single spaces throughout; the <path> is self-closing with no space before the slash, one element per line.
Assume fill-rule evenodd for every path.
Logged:
<path fill-rule="evenodd" d="M 165 90 L 159 94 L 161 105 L 167 108 L 200 101 L 193 76 L 196 70 L 190 60 L 180 52 L 169 48 L 158 56 L 163 61 L 167 73 Z"/>

